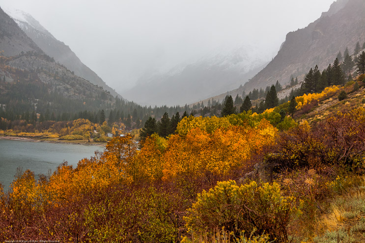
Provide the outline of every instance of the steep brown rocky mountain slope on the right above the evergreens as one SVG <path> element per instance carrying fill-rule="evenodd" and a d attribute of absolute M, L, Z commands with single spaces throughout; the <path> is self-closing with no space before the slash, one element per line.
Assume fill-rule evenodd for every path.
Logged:
<path fill-rule="evenodd" d="M 339 51 L 343 54 L 348 47 L 352 53 L 358 41 L 364 43 L 364 27 L 365 1 L 337 0 L 308 27 L 288 33 L 275 58 L 243 89 L 248 92 L 264 88 L 277 80 L 286 84 L 291 76 L 304 75 L 315 65 L 323 70 L 333 63 Z"/>

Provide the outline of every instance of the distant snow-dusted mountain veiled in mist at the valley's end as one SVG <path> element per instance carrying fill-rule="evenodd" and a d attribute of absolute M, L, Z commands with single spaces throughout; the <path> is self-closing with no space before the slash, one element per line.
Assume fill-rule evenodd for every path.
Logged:
<path fill-rule="evenodd" d="M 123 97 L 144 105 L 184 105 L 237 87 L 261 70 L 272 56 L 242 46 L 221 50 L 167 72 L 145 74 Z"/>

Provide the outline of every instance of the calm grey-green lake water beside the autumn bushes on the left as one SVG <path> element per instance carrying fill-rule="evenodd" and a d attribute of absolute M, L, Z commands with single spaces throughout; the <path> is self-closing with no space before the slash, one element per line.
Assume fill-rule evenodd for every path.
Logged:
<path fill-rule="evenodd" d="M 52 173 L 63 161 L 74 168 L 83 158 L 94 156 L 96 150 L 103 151 L 105 146 L 49 143 L 0 139 L 0 182 L 7 191 L 14 180 L 17 168 L 23 172 L 30 169 L 34 174 Z"/>

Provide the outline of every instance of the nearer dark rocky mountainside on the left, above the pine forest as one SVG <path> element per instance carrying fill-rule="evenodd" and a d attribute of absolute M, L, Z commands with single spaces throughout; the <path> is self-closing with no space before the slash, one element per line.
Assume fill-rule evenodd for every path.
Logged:
<path fill-rule="evenodd" d="M 0 104 L 8 112 L 108 108 L 115 98 L 45 54 L 0 8 Z"/>

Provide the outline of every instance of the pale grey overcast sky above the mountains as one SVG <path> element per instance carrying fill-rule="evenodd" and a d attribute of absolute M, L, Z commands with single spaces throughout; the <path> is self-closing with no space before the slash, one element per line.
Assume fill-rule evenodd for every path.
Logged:
<path fill-rule="evenodd" d="M 333 0 L 0 0 L 31 14 L 117 91 L 217 47 L 280 48 Z"/>

